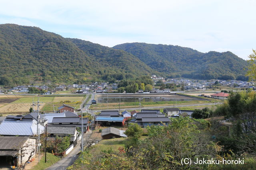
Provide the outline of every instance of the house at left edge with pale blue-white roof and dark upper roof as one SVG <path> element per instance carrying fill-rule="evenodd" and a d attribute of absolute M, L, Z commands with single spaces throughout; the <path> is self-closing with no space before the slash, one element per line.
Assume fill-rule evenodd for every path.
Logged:
<path fill-rule="evenodd" d="M 39 133 L 44 132 L 44 126 L 38 124 Z M 37 135 L 37 121 L 22 115 L 7 116 L 0 124 L 0 135 L 3 136 L 34 136 Z"/>

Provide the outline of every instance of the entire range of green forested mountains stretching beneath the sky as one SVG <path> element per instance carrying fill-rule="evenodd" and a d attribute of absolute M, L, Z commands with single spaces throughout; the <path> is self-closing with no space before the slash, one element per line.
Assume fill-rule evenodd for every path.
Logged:
<path fill-rule="evenodd" d="M 0 25 L 0 85 L 114 82 L 150 74 L 242 80 L 246 65 L 231 52 L 146 43 L 109 48 L 38 27 Z"/>

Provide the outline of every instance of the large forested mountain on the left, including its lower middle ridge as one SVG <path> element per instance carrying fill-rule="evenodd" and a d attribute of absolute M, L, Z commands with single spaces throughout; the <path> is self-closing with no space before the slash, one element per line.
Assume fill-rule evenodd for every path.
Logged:
<path fill-rule="evenodd" d="M 116 79 L 152 74 L 149 66 L 125 51 L 15 24 L 0 25 L 0 68 L 4 85 L 82 83 L 111 79 L 113 73 Z"/>

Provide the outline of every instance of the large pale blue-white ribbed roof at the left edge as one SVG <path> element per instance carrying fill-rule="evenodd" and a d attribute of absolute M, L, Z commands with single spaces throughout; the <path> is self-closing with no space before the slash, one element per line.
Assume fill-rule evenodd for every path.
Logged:
<path fill-rule="evenodd" d="M 38 125 L 40 134 L 44 127 Z M 37 122 L 33 121 L 2 121 L 0 124 L 0 135 L 34 136 L 37 134 Z"/>

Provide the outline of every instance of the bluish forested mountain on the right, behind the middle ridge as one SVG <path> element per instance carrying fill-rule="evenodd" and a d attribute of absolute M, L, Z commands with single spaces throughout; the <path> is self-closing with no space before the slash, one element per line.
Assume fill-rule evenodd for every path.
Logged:
<path fill-rule="evenodd" d="M 125 43 L 113 48 L 132 53 L 170 78 L 247 79 L 244 76 L 247 62 L 229 51 L 201 53 L 186 47 L 146 43 Z"/>

